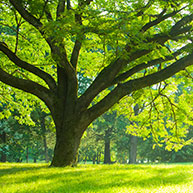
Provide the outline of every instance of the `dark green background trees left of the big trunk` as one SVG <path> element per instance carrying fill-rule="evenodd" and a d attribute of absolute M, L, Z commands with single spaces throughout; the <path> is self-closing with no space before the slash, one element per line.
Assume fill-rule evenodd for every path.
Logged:
<path fill-rule="evenodd" d="M 4 112 L 5 109 L 4 104 Z M 8 118 L 4 117 L 0 120 L 1 161 L 29 162 L 33 159 L 34 162 L 37 160 L 48 162 L 51 160 L 55 137 L 52 120 L 40 109 L 35 109 L 31 116 L 34 121 L 31 125 L 20 123 L 20 119 L 17 118 L 20 117 L 20 114 L 17 110 L 11 112 Z"/>

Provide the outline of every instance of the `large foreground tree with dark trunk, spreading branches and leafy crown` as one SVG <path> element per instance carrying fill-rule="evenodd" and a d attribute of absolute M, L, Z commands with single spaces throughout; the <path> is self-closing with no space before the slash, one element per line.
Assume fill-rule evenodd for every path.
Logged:
<path fill-rule="evenodd" d="M 134 91 L 193 65 L 192 0 L 2 0 L 0 81 L 41 99 L 52 166 L 72 165 L 90 123 Z M 78 72 L 93 81 L 78 95 Z"/>

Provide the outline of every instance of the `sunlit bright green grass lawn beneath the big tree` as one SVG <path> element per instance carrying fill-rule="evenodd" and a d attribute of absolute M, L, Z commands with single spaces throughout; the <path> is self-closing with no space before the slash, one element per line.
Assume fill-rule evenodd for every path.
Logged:
<path fill-rule="evenodd" d="M 193 193 L 193 164 L 0 164 L 1 193 Z"/>

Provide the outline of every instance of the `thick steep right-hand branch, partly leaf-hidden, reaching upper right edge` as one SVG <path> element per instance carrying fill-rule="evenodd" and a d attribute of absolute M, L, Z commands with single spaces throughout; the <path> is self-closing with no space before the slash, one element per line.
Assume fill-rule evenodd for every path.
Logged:
<path fill-rule="evenodd" d="M 192 14 L 193 15 L 193 14 Z M 187 19 L 181 19 L 180 21 L 183 21 L 183 24 L 190 23 L 193 20 L 192 16 L 188 16 Z M 179 21 L 179 22 L 180 22 Z M 179 26 L 179 22 L 175 25 Z M 172 29 L 175 28 L 175 25 L 172 27 Z M 186 32 L 189 32 L 192 29 L 192 26 L 187 26 L 184 28 L 176 29 L 175 31 L 171 30 L 169 35 L 165 33 L 155 34 L 152 38 L 149 38 L 146 40 L 146 43 L 158 43 L 160 45 L 163 45 L 167 40 L 169 39 L 176 39 L 178 35 L 184 34 Z M 152 49 L 149 50 L 137 50 L 134 53 L 132 53 L 131 47 L 127 48 L 126 50 L 128 53 L 130 53 L 130 58 L 128 60 L 118 58 L 115 62 L 112 62 L 109 66 L 104 68 L 97 78 L 94 80 L 94 82 L 91 84 L 91 86 L 86 90 L 86 92 L 80 97 L 80 100 L 82 100 L 82 105 L 85 104 L 86 107 L 90 104 L 90 102 L 100 93 L 102 90 L 107 88 L 109 86 L 109 82 L 113 81 L 113 79 L 116 77 L 116 75 L 120 72 L 120 70 L 127 65 L 128 63 L 136 60 L 137 58 L 140 58 L 141 56 L 144 56 L 152 51 Z M 84 101 L 84 102 L 83 102 Z M 85 103 L 85 101 L 87 101 Z"/>

